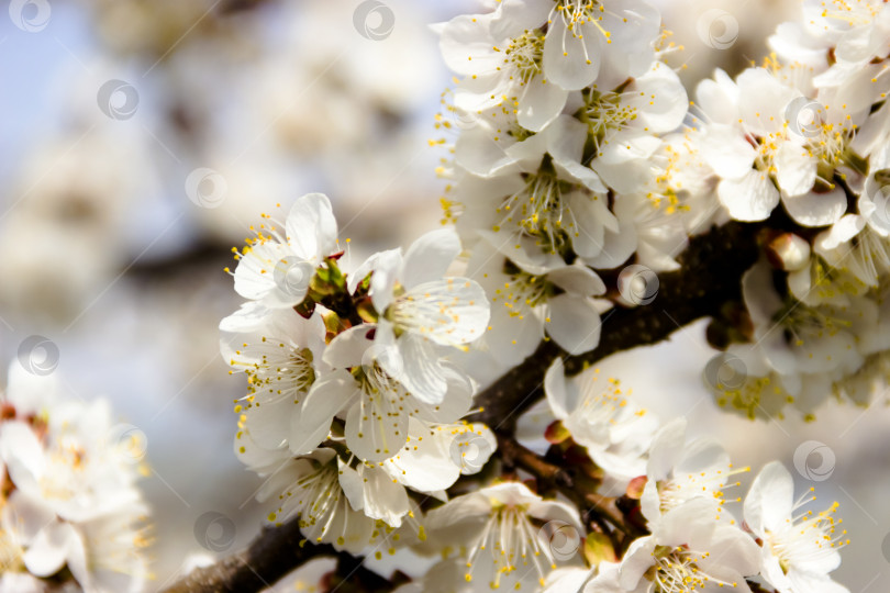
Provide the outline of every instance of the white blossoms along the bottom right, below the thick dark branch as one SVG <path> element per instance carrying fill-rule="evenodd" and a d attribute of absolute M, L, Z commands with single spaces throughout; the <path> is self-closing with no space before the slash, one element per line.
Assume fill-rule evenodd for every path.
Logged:
<path fill-rule="evenodd" d="M 742 497 L 726 494 L 749 468 L 735 468 L 714 439 L 688 440 L 683 418 L 658 427 L 615 381 L 598 381 L 593 371 L 569 380 L 560 363 L 549 369 L 546 395 L 559 421 L 547 433 L 565 462 L 596 463 L 585 469 L 590 483 L 607 494 L 620 485 L 628 516 L 638 513 L 642 530 L 625 540 L 623 558 L 567 501 L 498 482 L 426 514 L 429 538 L 415 550 L 443 559 L 400 593 L 750 592 L 758 579 L 779 593 L 847 591 L 830 577 L 848 544 L 837 503 L 801 511 L 815 496 L 794 499 L 791 474 L 771 462 L 736 518 L 726 505 Z"/>

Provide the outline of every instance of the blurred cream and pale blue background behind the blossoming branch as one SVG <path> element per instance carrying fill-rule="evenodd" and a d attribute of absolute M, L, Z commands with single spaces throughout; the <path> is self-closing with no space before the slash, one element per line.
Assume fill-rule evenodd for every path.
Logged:
<path fill-rule="evenodd" d="M 263 514 L 259 480 L 232 452 L 244 379 L 218 348 L 219 321 L 238 304 L 223 272 L 231 247 L 262 212 L 310 191 L 331 197 L 356 260 L 434 228 L 447 154 L 430 141 L 442 137 L 435 114 L 453 82 L 427 25 L 493 3 L 5 2 L 0 350 L 16 363 L 23 342 L 45 336 L 68 396 L 108 396 L 144 433 L 153 589 L 189 553 L 246 545 Z M 759 60 L 799 8 L 657 3 L 690 88 L 717 66 Z M 660 417 L 683 414 L 694 434 L 719 436 L 738 465 L 779 458 L 798 468 L 801 491 L 821 482 L 820 505 L 837 500 L 853 538 L 837 579 L 886 591 L 890 411 L 832 403 L 811 424 L 722 414 L 701 387 L 703 334 L 692 326 L 602 368 Z"/>

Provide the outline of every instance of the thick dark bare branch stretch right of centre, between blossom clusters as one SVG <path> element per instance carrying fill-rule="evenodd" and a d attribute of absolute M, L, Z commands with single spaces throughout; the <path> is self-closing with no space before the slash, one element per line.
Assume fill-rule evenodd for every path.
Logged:
<path fill-rule="evenodd" d="M 544 374 L 557 356 L 563 357 L 568 374 L 577 374 L 615 353 L 657 344 L 696 320 L 719 317 L 726 303 L 742 299 L 742 275 L 757 260 L 760 228 L 733 221 L 692 237 L 677 258 L 680 268 L 658 276 L 653 302 L 607 312 L 599 346 L 583 355 L 568 356 L 555 343 L 543 342 L 476 396 L 482 411 L 472 421 L 509 435 L 516 418 L 543 396 Z"/>

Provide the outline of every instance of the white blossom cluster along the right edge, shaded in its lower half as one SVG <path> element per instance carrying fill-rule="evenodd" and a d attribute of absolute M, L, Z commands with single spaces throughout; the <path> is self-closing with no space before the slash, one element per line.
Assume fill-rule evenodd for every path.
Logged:
<path fill-rule="evenodd" d="M 867 405 L 886 382 L 890 280 L 890 7 L 804 0 L 774 54 L 697 90 L 694 135 L 738 221 L 766 221 L 744 279 L 749 342 L 711 368 L 721 405 L 806 418 L 831 394 Z"/>

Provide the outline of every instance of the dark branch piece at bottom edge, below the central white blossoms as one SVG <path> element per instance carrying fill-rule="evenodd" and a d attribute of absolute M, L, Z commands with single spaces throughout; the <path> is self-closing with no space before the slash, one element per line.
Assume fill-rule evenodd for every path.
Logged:
<path fill-rule="evenodd" d="M 337 552 L 327 544 L 313 545 L 300 533 L 299 518 L 279 527 L 266 527 L 251 545 L 229 558 L 196 569 L 164 593 L 248 593 L 271 586 L 302 564 L 322 557 L 337 559 L 327 577 L 327 589 L 338 593 L 381 593 L 392 584 L 361 564 L 361 558 Z"/>

